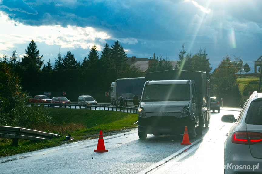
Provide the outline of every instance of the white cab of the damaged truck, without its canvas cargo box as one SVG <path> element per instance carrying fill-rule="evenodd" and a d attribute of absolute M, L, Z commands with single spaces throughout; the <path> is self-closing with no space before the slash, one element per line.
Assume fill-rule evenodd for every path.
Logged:
<path fill-rule="evenodd" d="M 138 135 L 182 134 L 188 126 L 194 136 L 199 126 L 200 102 L 194 80 L 147 81 L 138 109 Z"/>

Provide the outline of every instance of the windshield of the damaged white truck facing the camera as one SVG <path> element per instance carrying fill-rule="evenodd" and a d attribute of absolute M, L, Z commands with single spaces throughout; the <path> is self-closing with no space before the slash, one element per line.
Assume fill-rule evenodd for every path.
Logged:
<path fill-rule="evenodd" d="M 189 84 L 146 85 L 142 101 L 189 101 Z"/>

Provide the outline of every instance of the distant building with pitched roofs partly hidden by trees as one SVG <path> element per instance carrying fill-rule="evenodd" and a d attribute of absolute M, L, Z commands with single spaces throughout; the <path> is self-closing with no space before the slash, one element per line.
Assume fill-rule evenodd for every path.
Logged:
<path fill-rule="evenodd" d="M 141 72 L 145 72 L 147 71 L 148 67 L 150 66 L 151 62 L 157 60 L 157 59 L 148 59 L 148 58 L 137 58 L 135 56 L 132 57 L 128 57 L 128 65 L 130 67 L 137 67 L 140 69 Z M 177 65 L 177 61 L 170 61 L 173 65 L 173 67 L 175 68 L 175 66 Z"/>

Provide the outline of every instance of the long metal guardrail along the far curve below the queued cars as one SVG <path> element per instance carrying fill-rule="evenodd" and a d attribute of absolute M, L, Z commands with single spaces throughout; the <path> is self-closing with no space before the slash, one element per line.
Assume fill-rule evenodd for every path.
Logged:
<path fill-rule="evenodd" d="M 53 104 L 53 103 L 28 103 L 30 106 L 34 105 L 43 105 L 45 107 L 69 107 L 80 109 L 94 109 L 94 110 L 111 110 L 111 111 L 122 111 L 129 113 L 138 113 L 138 107 L 121 107 L 121 106 L 112 106 L 112 105 L 81 105 L 81 104 Z M 110 109 L 111 108 L 111 109 Z"/>

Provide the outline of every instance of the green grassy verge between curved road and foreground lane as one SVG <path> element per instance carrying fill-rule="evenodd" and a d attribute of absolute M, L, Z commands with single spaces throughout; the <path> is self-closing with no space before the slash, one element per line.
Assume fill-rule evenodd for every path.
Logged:
<path fill-rule="evenodd" d="M 96 138 L 100 129 L 106 135 L 112 131 L 135 128 L 137 114 L 85 109 L 46 108 L 50 116 L 55 120 L 54 125 L 49 125 L 47 130 L 40 130 L 49 133 L 62 135 L 61 138 L 33 142 L 29 140 L 18 140 L 18 146 L 12 146 L 12 139 L 0 139 L 0 157 L 10 156 L 18 153 L 25 153 L 34 150 L 59 146 L 68 142 L 65 136 L 71 134 L 76 142 L 80 140 Z"/>

